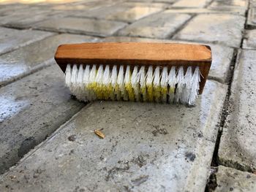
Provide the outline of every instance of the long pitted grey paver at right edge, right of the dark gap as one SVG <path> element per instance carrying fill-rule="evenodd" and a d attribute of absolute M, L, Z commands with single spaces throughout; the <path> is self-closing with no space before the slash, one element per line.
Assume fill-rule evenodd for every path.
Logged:
<path fill-rule="evenodd" d="M 219 145 L 219 162 L 236 169 L 256 170 L 256 51 L 242 50 L 230 95 L 230 114 Z"/>

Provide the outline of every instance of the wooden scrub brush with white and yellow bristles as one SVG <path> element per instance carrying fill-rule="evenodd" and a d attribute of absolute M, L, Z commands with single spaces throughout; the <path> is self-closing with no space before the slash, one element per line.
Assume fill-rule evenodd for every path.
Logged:
<path fill-rule="evenodd" d="M 194 105 L 211 66 L 206 45 L 98 42 L 60 45 L 55 60 L 80 101 Z"/>

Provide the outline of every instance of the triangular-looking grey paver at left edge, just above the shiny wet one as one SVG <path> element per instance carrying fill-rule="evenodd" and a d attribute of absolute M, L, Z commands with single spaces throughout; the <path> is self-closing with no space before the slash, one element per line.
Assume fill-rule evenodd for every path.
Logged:
<path fill-rule="evenodd" d="M 51 35 L 53 33 L 44 31 L 17 30 L 0 27 L 0 55 Z"/>

